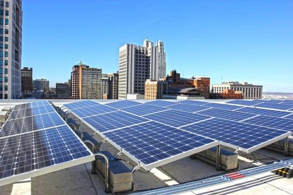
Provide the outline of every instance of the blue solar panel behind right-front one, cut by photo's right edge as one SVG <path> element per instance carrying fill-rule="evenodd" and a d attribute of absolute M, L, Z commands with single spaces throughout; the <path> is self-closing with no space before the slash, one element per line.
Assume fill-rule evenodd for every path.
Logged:
<path fill-rule="evenodd" d="M 244 122 L 293 132 L 293 121 L 287 118 L 258 116 Z"/>

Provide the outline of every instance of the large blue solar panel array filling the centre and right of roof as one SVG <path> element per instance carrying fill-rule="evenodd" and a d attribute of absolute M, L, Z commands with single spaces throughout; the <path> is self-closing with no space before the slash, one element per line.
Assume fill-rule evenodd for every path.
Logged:
<path fill-rule="evenodd" d="M 95 102 L 95 105 L 97 104 Z M 293 129 L 289 130 L 291 126 L 287 126 L 286 131 L 281 126 L 269 127 L 254 122 L 249 124 L 250 120 L 255 120 L 259 116 L 275 114 L 286 117 L 285 114 L 290 113 L 270 110 L 267 114 L 262 111 L 265 109 L 255 109 L 247 105 L 236 106 L 195 100 L 179 102 L 155 100 L 142 104 L 122 100 L 104 104 L 117 110 L 88 117 L 84 117 L 86 111 L 77 114 L 74 111 L 79 108 L 76 105 L 71 106 L 75 107 L 71 110 L 74 115 L 80 117 L 85 124 L 145 169 L 166 164 L 218 144 L 252 152 L 290 136 L 293 131 Z M 87 108 L 90 106 L 85 110 Z M 255 110 L 250 111 L 250 108 Z M 177 153 L 174 154 L 168 153 L 181 145 L 172 148 L 171 142 L 168 142 L 170 138 L 174 138 L 173 144 L 181 143 L 180 140 L 175 139 L 179 132 L 211 141 L 202 145 L 186 143 L 185 145 L 188 145 L 186 150 L 176 150 Z M 182 139 L 184 141 L 185 137 L 183 136 Z"/>

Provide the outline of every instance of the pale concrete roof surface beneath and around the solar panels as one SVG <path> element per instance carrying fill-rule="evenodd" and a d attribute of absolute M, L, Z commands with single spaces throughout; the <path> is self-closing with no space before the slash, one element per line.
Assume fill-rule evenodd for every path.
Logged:
<path fill-rule="evenodd" d="M 72 100 L 69 100 L 68 102 L 71 101 Z M 17 104 L 19 102 L 20 101 L 12 104 Z M 59 102 L 57 100 L 55 101 L 55 105 L 57 106 L 60 106 L 63 103 L 63 100 L 59 100 Z M 0 103 L 0 106 L 6 105 L 7 102 Z M 88 133 L 93 133 L 93 131 L 86 125 L 81 125 L 80 129 Z M 102 140 L 102 137 L 99 136 L 95 136 L 95 138 L 98 141 Z M 225 149 L 234 151 L 229 148 Z M 116 148 L 106 142 L 101 145 L 101 151 L 109 151 L 113 155 L 118 152 Z M 266 149 L 259 149 L 253 152 L 253 154 L 258 160 L 257 163 L 253 161 L 254 157 L 252 154 L 242 152 L 238 154 L 240 170 L 284 159 L 283 154 Z M 126 156 L 119 156 L 119 158 L 131 161 Z M 128 163 L 124 161 L 122 161 L 122 163 L 130 169 L 132 168 Z M 216 171 L 213 165 L 199 159 L 186 157 L 152 169 L 148 173 L 136 171 L 133 175 L 134 191 L 161 188 L 224 173 L 227 172 Z M 272 173 L 265 173 L 234 181 L 232 183 L 184 193 L 182 195 L 266 195 L 269 193 L 270 195 L 293 195 L 292 186 L 293 179 L 276 176 Z M 14 184 L 1 186 L 0 195 L 105 195 L 106 193 L 104 190 L 105 185 L 103 181 L 98 175 L 91 174 L 91 163 L 86 163 L 54 173 L 19 181 Z"/>

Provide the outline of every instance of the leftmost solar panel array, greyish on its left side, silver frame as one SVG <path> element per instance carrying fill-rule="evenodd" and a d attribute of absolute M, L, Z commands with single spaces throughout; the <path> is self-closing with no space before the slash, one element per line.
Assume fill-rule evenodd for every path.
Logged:
<path fill-rule="evenodd" d="M 48 101 L 16 105 L 0 130 L 0 186 L 92 160 Z"/>

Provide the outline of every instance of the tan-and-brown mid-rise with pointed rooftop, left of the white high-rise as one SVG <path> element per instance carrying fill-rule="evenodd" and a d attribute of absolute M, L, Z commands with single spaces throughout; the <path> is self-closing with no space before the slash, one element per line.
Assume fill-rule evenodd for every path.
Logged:
<path fill-rule="evenodd" d="M 72 98 L 102 99 L 102 69 L 90 68 L 82 62 L 71 72 Z"/>

